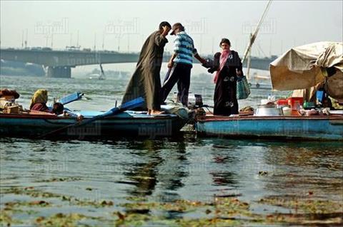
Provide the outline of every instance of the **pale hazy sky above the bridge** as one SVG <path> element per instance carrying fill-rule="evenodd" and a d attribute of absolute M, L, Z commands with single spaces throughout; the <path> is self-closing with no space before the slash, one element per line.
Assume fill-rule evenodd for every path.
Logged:
<path fill-rule="evenodd" d="M 21 47 L 27 31 L 30 47 L 94 48 L 95 43 L 96 49 L 104 44 L 107 50 L 139 51 L 159 22 L 169 21 L 184 23 L 199 53 L 217 51 L 220 39 L 226 37 L 241 54 L 267 5 L 267 1 L 0 2 L 1 47 Z M 304 43 L 342 41 L 342 11 L 342 1 L 273 1 L 253 55 L 279 55 Z M 171 51 L 174 37 L 168 37 L 166 51 Z"/>

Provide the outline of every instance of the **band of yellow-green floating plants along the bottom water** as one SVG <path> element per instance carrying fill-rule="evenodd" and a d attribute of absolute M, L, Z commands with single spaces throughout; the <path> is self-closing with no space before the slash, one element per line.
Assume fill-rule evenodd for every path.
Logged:
<path fill-rule="evenodd" d="M 1 204 L 0 225 L 23 224 L 18 214 L 31 216 L 29 225 L 36 226 L 242 226 L 270 224 L 341 225 L 343 205 L 335 201 L 298 198 L 295 196 L 268 196 L 257 204 L 282 206 L 289 213 L 254 213 L 251 205 L 236 197 L 213 196 L 211 201 L 177 200 L 173 202 L 148 201 L 139 196 L 130 196 L 126 202 L 114 204 L 111 200 L 89 201 L 73 196 L 40 191 L 32 186 L 1 189 L 1 195 L 20 194 L 33 200 L 8 201 Z M 56 200 L 57 199 L 57 200 Z M 76 206 L 91 208 L 103 216 L 86 213 L 54 213 L 51 207 Z M 49 213 L 41 215 L 41 210 Z M 96 210 L 95 210 L 96 209 Z M 24 223 L 26 224 L 26 223 Z"/>

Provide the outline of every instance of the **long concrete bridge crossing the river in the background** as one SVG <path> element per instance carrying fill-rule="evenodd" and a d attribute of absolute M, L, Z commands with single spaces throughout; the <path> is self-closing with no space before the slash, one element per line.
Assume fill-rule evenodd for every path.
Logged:
<path fill-rule="evenodd" d="M 165 53 L 164 62 L 167 62 L 170 56 L 170 53 Z M 44 65 L 47 68 L 46 75 L 48 77 L 70 78 L 71 68 L 75 68 L 78 65 L 136 63 L 139 53 L 91 51 L 90 49 L 57 51 L 51 48 L 1 48 L 0 58 Z M 269 63 L 275 58 L 252 58 L 251 68 L 268 70 Z M 194 60 L 194 63 L 199 63 L 199 61 Z"/>

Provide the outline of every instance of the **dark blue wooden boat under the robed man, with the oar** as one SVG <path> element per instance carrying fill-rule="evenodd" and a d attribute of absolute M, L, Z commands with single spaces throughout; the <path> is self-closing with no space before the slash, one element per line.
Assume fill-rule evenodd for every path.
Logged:
<path fill-rule="evenodd" d="M 81 111 L 84 120 L 104 112 Z M 48 132 L 59 130 L 76 122 L 76 117 L 59 117 L 44 112 L 26 114 L 0 113 L 0 134 L 2 137 L 38 137 Z M 96 120 L 89 125 L 71 127 L 52 134 L 50 137 L 171 137 L 177 134 L 187 123 L 175 114 L 146 115 L 145 112 L 125 111 L 118 115 Z"/>

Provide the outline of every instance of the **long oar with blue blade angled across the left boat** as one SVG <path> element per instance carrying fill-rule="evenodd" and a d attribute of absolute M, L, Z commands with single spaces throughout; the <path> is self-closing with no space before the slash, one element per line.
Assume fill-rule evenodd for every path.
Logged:
<path fill-rule="evenodd" d="M 37 137 L 37 139 L 42 139 L 42 138 L 49 136 L 51 134 L 59 133 L 63 130 L 68 129 L 69 127 L 80 127 L 80 126 L 88 125 L 89 123 L 94 122 L 96 120 L 100 120 L 104 117 L 117 115 L 120 112 L 124 112 L 125 110 L 131 110 L 131 109 L 134 109 L 136 107 L 141 107 L 141 105 L 143 105 L 143 103 L 144 103 L 144 98 L 138 97 L 138 98 L 131 100 L 129 102 L 125 102 L 124 104 L 120 105 L 119 107 L 114 107 L 111 110 L 104 112 L 101 115 L 97 115 L 95 117 L 91 117 L 88 120 L 84 120 L 83 122 L 76 122 L 75 124 L 72 124 L 72 125 L 66 125 L 64 127 L 59 128 L 58 130 L 54 130 L 54 131 L 48 132 L 46 134 L 40 135 L 39 137 Z"/>

